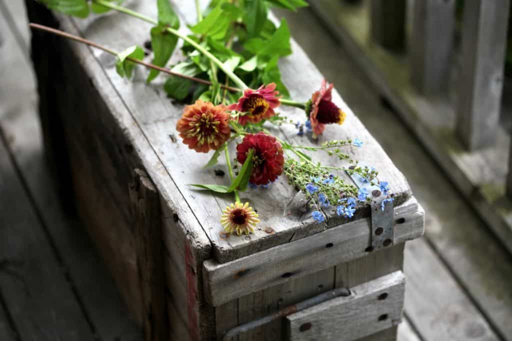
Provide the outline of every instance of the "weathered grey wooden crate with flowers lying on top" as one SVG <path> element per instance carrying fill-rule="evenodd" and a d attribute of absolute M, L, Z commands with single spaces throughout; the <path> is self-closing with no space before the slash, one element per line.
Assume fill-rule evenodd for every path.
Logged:
<path fill-rule="evenodd" d="M 184 22 L 195 19 L 192 2 L 173 3 Z M 122 14 L 76 20 L 32 0 L 27 5 L 31 21 L 118 50 L 148 39 L 148 26 Z M 150 0 L 132 6 L 156 16 Z M 308 98 L 323 77 L 295 42 L 292 48 L 281 62 L 283 80 L 294 98 Z M 243 193 L 260 213 L 259 229 L 225 238 L 219 213 L 230 199 L 186 185 L 225 179 L 200 170 L 204 155 L 176 140 L 183 105 L 170 102 L 158 81 L 145 84 L 145 70 L 137 70 L 131 82 L 123 80 L 111 56 L 86 46 L 33 32 L 32 51 L 49 160 L 146 339 L 221 339 L 234 327 L 288 307 L 280 319 L 232 339 L 396 338 L 403 245 L 421 236 L 424 213 L 403 175 L 337 92 L 333 100 L 348 113 L 347 121 L 329 127 L 325 138 L 365 141 L 364 148 L 349 152 L 375 166 L 395 193 L 392 233 L 380 249 L 371 247 L 376 226 L 369 208 L 350 221 L 330 216 L 315 223 L 294 208 L 296 191 L 284 176 L 266 190 Z M 282 111 L 303 119 L 298 110 Z M 274 133 L 291 142 L 305 139 L 287 128 Z M 296 303 L 340 287 L 350 295 L 294 312 Z"/>

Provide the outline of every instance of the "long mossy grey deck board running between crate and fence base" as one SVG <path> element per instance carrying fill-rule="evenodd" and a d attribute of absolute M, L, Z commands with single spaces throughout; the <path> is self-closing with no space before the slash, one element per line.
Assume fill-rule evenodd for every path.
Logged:
<path fill-rule="evenodd" d="M 339 42 L 319 23 L 303 25 L 314 16 L 311 9 L 291 14 L 280 11 L 279 14 L 288 19 L 298 43 L 319 69 L 330 75 L 330 80 L 349 106 L 407 176 L 413 193 L 425 208 L 425 237 L 429 241 L 428 246 L 435 251 L 435 254 L 430 254 L 442 259 L 462 287 L 457 290 L 465 290 L 495 331 L 509 340 L 512 337 L 511 326 L 507 322 L 512 319 L 512 288 L 509 284 L 512 259 L 506 249 L 492 233 L 482 228 L 483 222 L 471 206 L 434 160 L 425 154 L 395 113 L 382 106 L 379 92 L 367 76 L 354 67 L 346 47 L 339 46 Z M 425 263 L 429 261 L 424 260 Z M 423 262 L 417 266 L 421 268 Z M 427 281 L 430 274 L 422 276 Z M 416 321 L 412 322 L 416 324 Z"/>

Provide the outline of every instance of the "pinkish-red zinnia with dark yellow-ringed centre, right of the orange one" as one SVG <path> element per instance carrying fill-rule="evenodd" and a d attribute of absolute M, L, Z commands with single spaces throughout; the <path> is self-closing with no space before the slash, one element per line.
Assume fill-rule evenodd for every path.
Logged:
<path fill-rule="evenodd" d="M 247 122 L 258 123 L 275 115 L 274 109 L 281 104 L 279 102 L 281 97 L 276 97 L 277 95 L 279 91 L 275 91 L 275 83 L 262 85 L 256 90 L 246 89 L 244 96 L 240 97 L 237 103 L 229 105 L 227 109 L 245 114 L 238 119 L 241 125 L 246 125 Z"/>

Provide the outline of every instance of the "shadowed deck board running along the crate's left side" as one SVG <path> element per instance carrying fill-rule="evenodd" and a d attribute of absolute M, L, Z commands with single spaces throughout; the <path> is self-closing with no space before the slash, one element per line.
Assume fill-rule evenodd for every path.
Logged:
<path fill-rule="evenodd" d="M 10 14 L 23 29 L 27 19 L 20 11 L 24 11 L 24 7 L 14 3 L 9 2 L 6 8 L 12 11 Z M 10 31 L 3 31 L 4 36 L 12 36 L 12 30 L 11 27 Z M 23 36 L 28 39 L 27 35 Z M 1 62 L 5 70 L 11 65 L 12 73 L 8 75 L 12 77 L 3 81 L 9 84 L 10 91 L 17 94 L 11 98 L 5 97 L 4 93 L 0 95 L 0 103 L 7 105 L 7 109 L 5 105 L 1 106 L 0 128 L 8 137 L 8 148 L 69 271 L 70 285 L 77 290 L 97 335 L 102 339 L 139 340 L 142 338 L 141 329 L 132 320 L 92 241 L 76 218 L 62 211 L 42 150 L 31 64 L 24 58 L 21 47 L 23 45 L 9 39 L 6 48 L 9 48 L 8 55 L 12 59 L 8 58 L 9 64 Z M 16 63 L 10 60 L 16 60 Z"/>

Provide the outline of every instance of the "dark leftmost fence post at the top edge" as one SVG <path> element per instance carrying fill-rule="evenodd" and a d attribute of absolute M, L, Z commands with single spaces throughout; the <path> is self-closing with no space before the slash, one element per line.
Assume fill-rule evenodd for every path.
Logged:
<path fill-rule="evenodd" d="M 401 50 L 406 42 L 406 0 L 371 0 L 371 34 L 380 46 Z"/>

